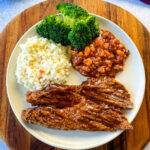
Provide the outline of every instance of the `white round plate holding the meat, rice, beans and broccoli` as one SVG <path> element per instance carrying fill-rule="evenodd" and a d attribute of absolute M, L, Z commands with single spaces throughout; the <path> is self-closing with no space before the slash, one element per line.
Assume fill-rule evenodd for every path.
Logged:
<path fill-rule="evenodd" d="M 135 118 L 144 95 L 145 90 L 145 72 L 141 56 L 129 38 L 129 36 L 116 24 L 111 21 L 96 16 L 97 22 L 101 28 L 111 31 L 125 46 L 130 50 L 130 55 L 127 58 L 124 66 L 124 71 L 117 74 L 116 80 L 125 85 L 131 94 L 131 100 L 134 102 L 134 109 L 126 111 L 126 116 L 129 122 Z M 115 137 L 122 131 L 116 132 L 87 132 L 87 131 L 62 131 L 47 129 L 37 125 L 25 124 L 21 120 L 21 111 L 31 107 L 25 101 L 26 90 L 22 85 L 17 84 L 15 70 L 16 60 L 21 51 L 19 44 L 24 43 L 27 38 L 36 35 L 35 25 L 32 26 L 18 41 L 14 48 L 7 68 L 6 86 L 7 94 L 11 107 L 24 128 L 30 132 L 34 137 L 49 145 L 64 148 L 64 149 L 86 149 L 103 145 Z M 70 84 L 79 84 L 84 78 L 75 72 L 74 78 L 69 78 Z"/>

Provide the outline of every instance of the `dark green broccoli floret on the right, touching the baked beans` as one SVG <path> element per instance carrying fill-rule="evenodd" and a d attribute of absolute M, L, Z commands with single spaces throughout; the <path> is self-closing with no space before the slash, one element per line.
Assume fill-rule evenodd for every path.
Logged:
<path fill-rule="evenodd" d="M 83 50 L 94 38 L 99 36 L 99 27 L 95 24 L 95 17 L 88 16 L 86 20 L 81 20 L 75 24 L 68 38 L 71 45 L 78 50 Z"/>

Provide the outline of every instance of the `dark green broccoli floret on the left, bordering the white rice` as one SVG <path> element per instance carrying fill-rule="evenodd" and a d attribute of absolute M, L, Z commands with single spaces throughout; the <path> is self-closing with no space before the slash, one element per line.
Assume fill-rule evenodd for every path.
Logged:
<path fill-rule="evenodd" d="M 37 33 L 45 38 L 53 40 L 55 43 L 70 45 L 68 34 L 71 31 L 69 25 L 64 24 L 61 15 L 50 15 L 36 26 Z"/>

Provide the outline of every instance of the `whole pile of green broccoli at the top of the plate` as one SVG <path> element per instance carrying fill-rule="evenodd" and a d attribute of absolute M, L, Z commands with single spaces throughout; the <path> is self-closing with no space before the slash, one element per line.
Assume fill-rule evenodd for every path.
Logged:
<path fill-rule="evenodd" d="M 71 3 L 58 3 L 56 8 L 61 14 L 50 15 L 36 26 L 40 36 L 62 45 L 71 44 L 79 50 L 84 49 L 99 36 L 95 17 L 83 8 Z"/>

